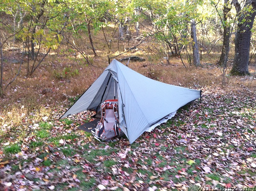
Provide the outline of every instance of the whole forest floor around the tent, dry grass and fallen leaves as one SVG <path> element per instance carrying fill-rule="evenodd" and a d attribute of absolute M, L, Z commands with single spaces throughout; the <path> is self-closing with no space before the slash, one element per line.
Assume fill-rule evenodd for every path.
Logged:
<path fill-rule="evenodd" d="M 229 76 L 229 65 L 222 87 L 216 54 L 203 55 L 202 68 L 184 68 L 180 58 L 167 65 L 162 56 L 146 52 L 129 53 L 146 59 L 129 67 L 202 89 L 202 103 L 182 107 L 132 144 L 125 137 L 100 143 L 77 128 L 92 113 L 58 119 L 108 65 L 107 57 L 91 57 L 93 67 L 77 63 L 71 53 L 49 55 L 32 77 L 24 77 L 24 66 L 0 100 L 0 190 L 255 187 L 256 78 Z M 12 53 L 4 54 L 10 65 L 4 72 L 11 73 L 18 65 L 8 60 Z M 44 94 L 45 88 L 50 91 Z"/>

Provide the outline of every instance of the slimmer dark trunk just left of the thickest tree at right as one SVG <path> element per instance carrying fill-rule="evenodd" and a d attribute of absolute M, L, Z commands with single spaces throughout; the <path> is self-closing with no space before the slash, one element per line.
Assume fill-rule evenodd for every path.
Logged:
<path fill-rule="evenodd" d="M 230 4 L 228 0 L 224 0 L 223 6 L 223 45 L 222 51 L 220 55 L 220 60 L 218 62 L 219 65 L 224 65 L 225 56 L 229 53 L 229 40 L 230 40 L 230 25 L 227 23 L 228 20 L 228 13 L 230 11 Z"/>

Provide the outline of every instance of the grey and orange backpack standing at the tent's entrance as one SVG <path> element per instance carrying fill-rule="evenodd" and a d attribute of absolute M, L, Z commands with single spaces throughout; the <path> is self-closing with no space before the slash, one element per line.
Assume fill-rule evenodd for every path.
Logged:
<path fill-rule="evenodd" d="M 92 134 L 98 141 L 110 141 L 113 137 L 121 135 L 118 120 L 117 99 L 106 100 L 100 104 L 101 119 Z M 100 141 L 101 142 L 101 141 Z"/>

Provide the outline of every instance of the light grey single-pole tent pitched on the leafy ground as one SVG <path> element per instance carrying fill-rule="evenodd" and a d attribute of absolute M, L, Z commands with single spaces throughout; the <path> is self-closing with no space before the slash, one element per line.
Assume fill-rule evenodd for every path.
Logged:
<path fill-rule="evenodd" d="M 152 80 L 113 60 L 97 80 L 61 117 L 81 111 L 100 111 L 100 103 L 118 99 L 119 126 L 134 142 L 145 131 L 172 118 L 176 111 L 201 97 L 201 90 Z"/>

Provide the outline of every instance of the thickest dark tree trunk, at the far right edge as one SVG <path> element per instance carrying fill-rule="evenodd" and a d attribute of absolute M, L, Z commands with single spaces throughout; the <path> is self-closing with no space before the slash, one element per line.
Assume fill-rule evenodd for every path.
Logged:
<path fill-rule="evenodd" d="M 235 3 L 238 12 L 238 25 L 235 41 L 235 58 L 230 73 L 233 75 L 250 75 L 248 65 L 251 29 L 256 15 L 256 0 L 246 0 L 243 10 L 241 10 L 240 4 L 237 1 Z M 248 11 L 249 6 L 252 6 L 251 11 Z"/>

